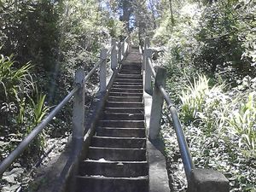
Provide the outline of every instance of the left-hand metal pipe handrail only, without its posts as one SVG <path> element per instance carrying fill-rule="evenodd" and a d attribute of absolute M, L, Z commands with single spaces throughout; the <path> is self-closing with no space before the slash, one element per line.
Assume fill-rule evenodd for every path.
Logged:
<path fill-rule="evenodd" d="M 113 46 L 108 50 L 107 56 L 111 53 Z M 101 59 L 96 63 L 96 65 L 90 70 L 90 72 L 84 78 L 84 83 L 90 79 L 91 75 L 96 71 L 97 67 L 99 67 L 103 61 L 107 59 Z M 3 161 L 0 163 L 0 177 L 3 175 L 3 172 L 7 170 L 7 168 L 17 159 L 17 157 L 22 154 L 22 152 L 27 148 L 27 146 L 32 143 L 33 139 L 38 136 L 38 134 L 44 129 L 46 125 L 49 124 L 56 113 L 58 113 L 61 108 L 63 108 L 67 102 L 72 98 L 72 96 L 79 90 L 79 84 L 75 85 L 75 88 L 70 91 L 70 93 L 47 115 L 42 122 L 37 125 L 26 137 L 25 139 L 12 151 Z"/>

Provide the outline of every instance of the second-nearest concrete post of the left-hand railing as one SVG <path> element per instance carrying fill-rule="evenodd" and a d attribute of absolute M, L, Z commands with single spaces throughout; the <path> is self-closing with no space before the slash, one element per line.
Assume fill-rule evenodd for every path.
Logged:
<path fill-rule="evenodd" d="M 100 91 L 106 90 L 107 87 L 107 53 L 108 49 L 101 49 Z"/>

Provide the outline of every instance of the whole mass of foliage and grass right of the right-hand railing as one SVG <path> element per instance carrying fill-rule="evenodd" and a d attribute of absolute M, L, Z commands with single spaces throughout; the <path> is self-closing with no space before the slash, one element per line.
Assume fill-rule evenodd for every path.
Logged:
<path fill-rule="evenodd" d="M 253 1 L 229 3 L 187 3 L 174 15 L 174 25 L 163 18 L 154 44 L 166 45 L 160 63 L 167 68 L 166 88 L 180 110 L 195 166 L 223 172 L 231 191 L 251 192 L 256 190 L 255 13 Z M 184 184 L 177 176 L 181 162 L 174 132 L 167 125 L 165 130 L 176 188 Z"/>

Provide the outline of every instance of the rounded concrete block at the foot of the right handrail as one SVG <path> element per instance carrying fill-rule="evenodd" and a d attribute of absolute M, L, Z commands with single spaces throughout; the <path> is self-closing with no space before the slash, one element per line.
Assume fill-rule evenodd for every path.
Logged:
<path fill-rule="evenodd" d="M 229 180 L 220 172 L 195 169 L 191 172 L 187 192 L 229 192 Z"/>

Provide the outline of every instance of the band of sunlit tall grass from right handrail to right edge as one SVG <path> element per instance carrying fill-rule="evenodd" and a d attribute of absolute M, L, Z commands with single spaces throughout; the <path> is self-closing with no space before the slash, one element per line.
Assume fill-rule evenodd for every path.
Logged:
<path fill-rule="evenodd" d="M 230 96 L 224 92 L 224 83 L 209 86 L 209 79 L 198 75 L 185 86 L 180 96 L 181 115 L 186 124 L 195 124 L 210 136 L 214 131 L 230 134 L 239 140 L 239 146 L 254 150 L 256 143 L 256 93 Z M 247 96 L 247 100 L 241 97 Z"/>

